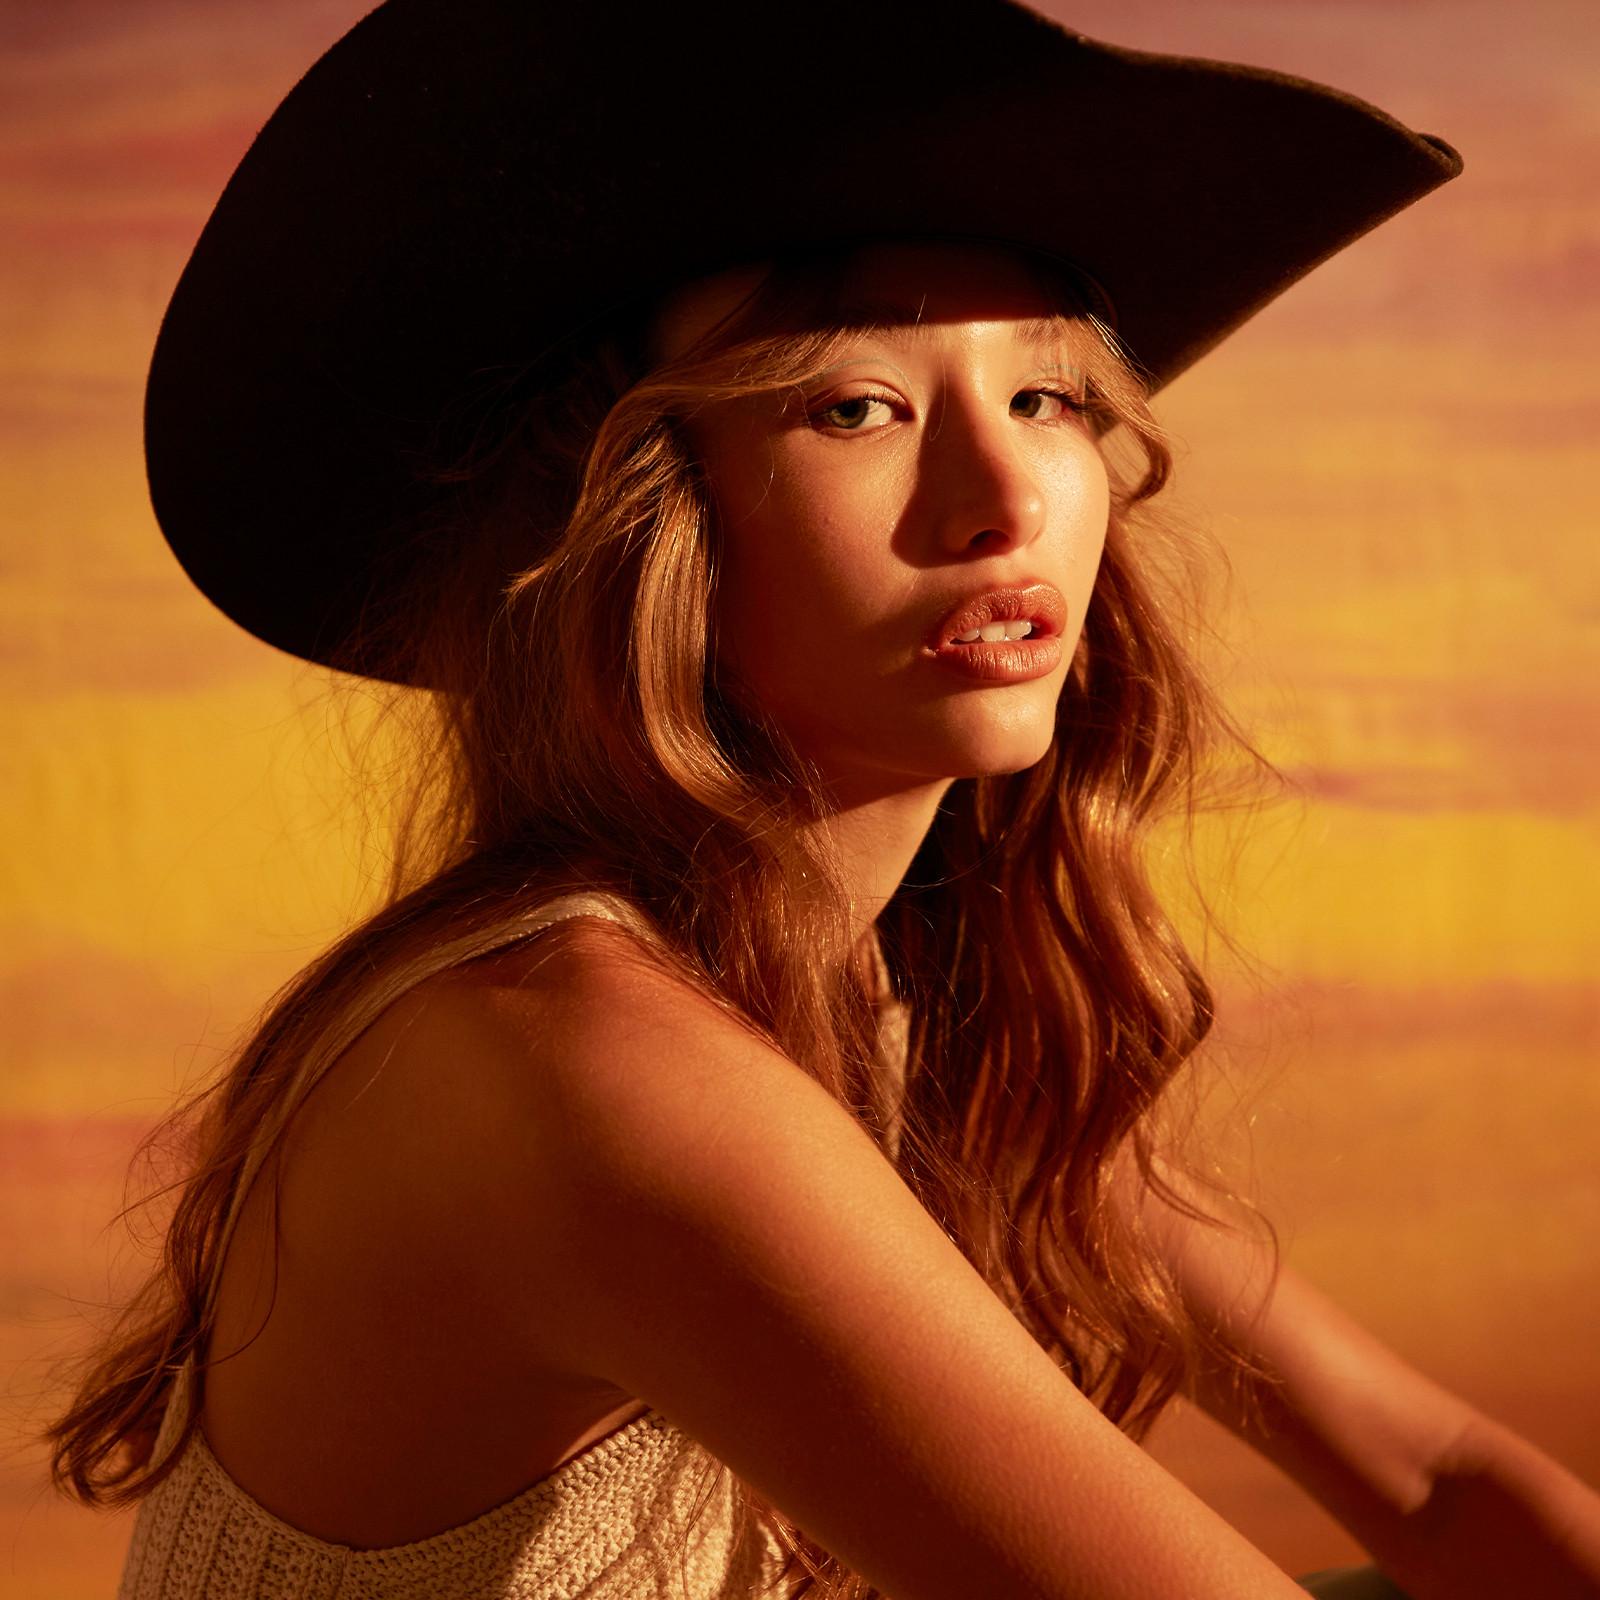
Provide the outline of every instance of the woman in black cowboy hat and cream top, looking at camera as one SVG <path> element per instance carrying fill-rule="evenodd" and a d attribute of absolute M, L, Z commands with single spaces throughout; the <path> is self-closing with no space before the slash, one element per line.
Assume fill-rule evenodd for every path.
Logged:
<path fill-rule="evenodd" d="M 197 246 L 163 531 L 437 738 L 61 1480 L 130 1595 L 1301 1592 L 1139 1451 L 1186 1390 L 1416 1600 L 1595 1592 L 1157 1147 L 1141 853 L 1230 730 L 1146 394 L 1459 163 L 1013 5 L 760 24 L 390 0 Z"/>

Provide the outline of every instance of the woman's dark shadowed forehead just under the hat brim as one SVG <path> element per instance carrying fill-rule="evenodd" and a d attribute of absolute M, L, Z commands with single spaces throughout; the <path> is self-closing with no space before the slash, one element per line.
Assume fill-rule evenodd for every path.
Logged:
<path fill-rule="evenodd" d="M 672 358 L 768 280 L 773 262 L 696 278 L 651 325 L 658 358 Z M 931 339 L 973 323 L 1006 323 L 1019 342 L 1059 338 L 1062 304 L 1019 253 L 986 243 L 880 243 L 846 254 L 829 283 L 829 320 L 896 339 Z"/>

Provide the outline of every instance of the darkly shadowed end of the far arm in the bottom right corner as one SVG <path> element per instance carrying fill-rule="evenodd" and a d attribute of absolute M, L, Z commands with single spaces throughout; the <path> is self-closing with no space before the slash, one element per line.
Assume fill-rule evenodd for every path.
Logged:
<path fill-rule="evenodd" d="M 1475 1414 L 1427 1499 L 1373 1555 L 1413 1600 L 1595 1600 L 1600 1496 L 1528 1440 Z"/>

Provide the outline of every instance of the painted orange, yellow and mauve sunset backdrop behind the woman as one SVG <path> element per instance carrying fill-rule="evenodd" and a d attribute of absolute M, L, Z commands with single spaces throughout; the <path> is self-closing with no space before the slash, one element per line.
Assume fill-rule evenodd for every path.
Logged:
<path fill-rule="evenodd" d="M 54 1499 L 29 1442 L 53 1363 L 141 1262 L 107 1226 L 138 1136 L 362 904 L 322 686 L 189 587 L 139 445 L 216 194 L 362 10 L 0 21 L 0 1600 L 112 1592 L 126 1517 Z M 1214 1128 L 1296 1267 L 1594 1482 L 1600 13 L 1051 10 L 1334 83 L 1466 155 L 1158 402 L 1174 499 L 1232 565 L 1214 667 L 1299 786 L 1237 859 L 1203 838 L 1270 979 L 1218 971 Z M 862 101 L 886 173 L 893 93 Z M 1072 158 L 1070 114 L 1018 110 Z M 1155 1451 L 1288 1568 L 1355 1558 L 1210 1424 Z"/>

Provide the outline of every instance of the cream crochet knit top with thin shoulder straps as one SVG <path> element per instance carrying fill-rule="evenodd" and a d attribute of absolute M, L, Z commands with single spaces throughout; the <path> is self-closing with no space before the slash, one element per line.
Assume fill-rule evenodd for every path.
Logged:
<path fill-rule="evenodd" d="M 568 894 L 504 942 L 582 915 L 654 936 L 626 901 Z M 882 1021 L 880 1058 L 902 1083 L 906 1013 L 885 1006 Z M 192 1400 L 186 1362 L 154 1459 Z M 781 1566 L 776 1539 L 749 1514 L 731 1472 L 654 1410 L 472 1522 L 368 1550 L 272 1515 L 197 1427 L 139 1504 L 117 1600 L 754 1600 L 776 1594 Z"/>

